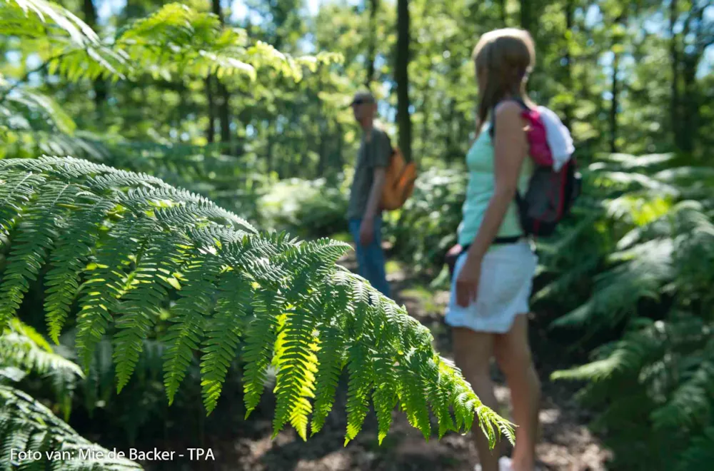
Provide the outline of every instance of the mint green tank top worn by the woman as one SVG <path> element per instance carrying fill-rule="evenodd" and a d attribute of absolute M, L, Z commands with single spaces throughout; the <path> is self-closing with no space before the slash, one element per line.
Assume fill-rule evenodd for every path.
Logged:
<path fill-rule="evenodd" d="M 458 243 L 468 245 L 473 242 L 481 227 L 483 214 L 486 213 L 488 202 L 491 201 L 496 187 L 493 162 L 493 143 L 488 132 L 491 123 L 485 123 L 483 129 L 466 153 L 466 167 L 468 168 L 468 186 L 466 187 L 466 201 L 463 203 L 463 219 L 458 231 Z M 533 173 L 533 163 L 526 158 L 521 166 L 521 175 L 518 177 L 518 191 L 525 193 L 528 189 L 528 179 Z M 506 216 L 498 230 L 497 237 L 520 236 L 523 233 L 521 222 L 518 218 L 518 206 L 513 201 L 508 206 Z"/>

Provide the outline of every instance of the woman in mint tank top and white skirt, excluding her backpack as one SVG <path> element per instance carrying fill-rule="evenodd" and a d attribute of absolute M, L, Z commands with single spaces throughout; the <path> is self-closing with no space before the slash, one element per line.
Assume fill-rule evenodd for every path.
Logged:
<path fill-rule="evenodd" d="M 533 471 L 540 383 L 528 345 L 528 299 L 537 258 L 522 236 L 515 198 L 531 175 L 523 106 L 528 73 L 535 64 L 527 31 L 499 29 L 481 37 L 473 51 L 478 81 L 478 136 L 466 163 L 469 182 L 454 265 L 446 323 L 453 328 L 456 364 L 491 408 L 497 407 L 490 374 L 495 357 L 513 401 L 516 447 L 499 460 L 474 429 L 481 460 L 477 470 Z M 488 121 L 487 121 L 488 119 Z M 495 127 L 494 127 L 495 125 Z M 453 255 L 453 253 L 452 253 Z"/>

